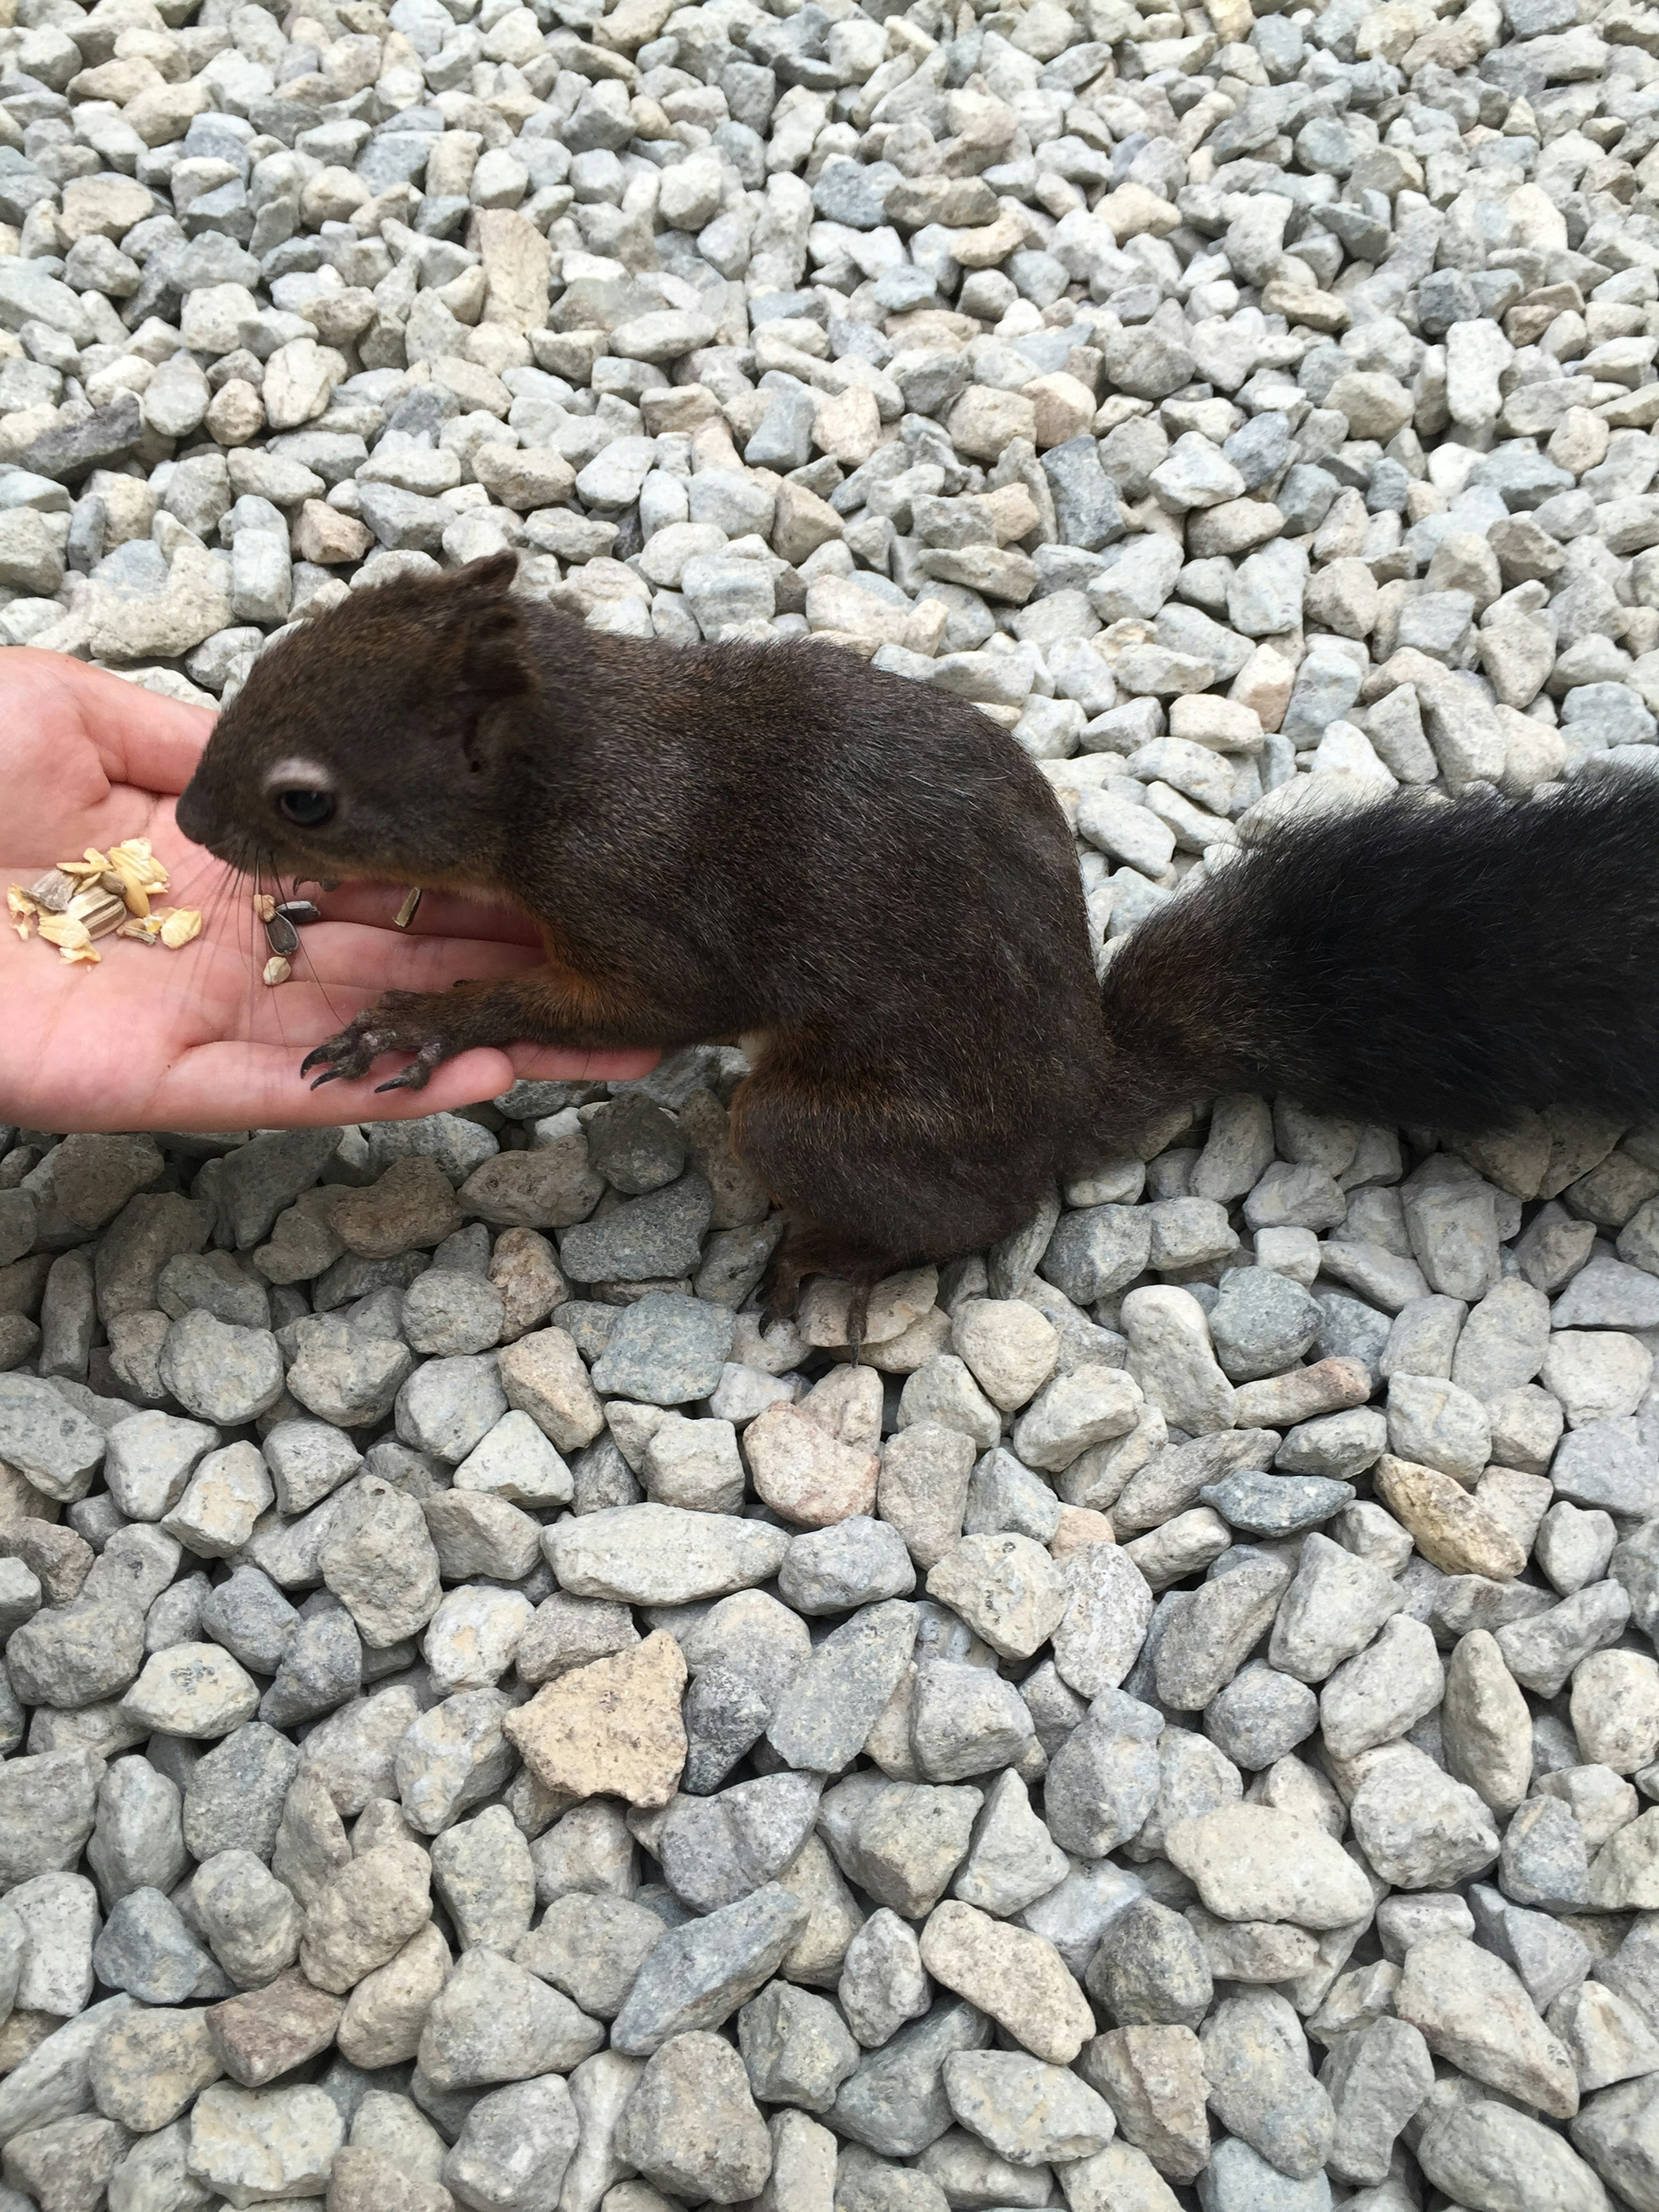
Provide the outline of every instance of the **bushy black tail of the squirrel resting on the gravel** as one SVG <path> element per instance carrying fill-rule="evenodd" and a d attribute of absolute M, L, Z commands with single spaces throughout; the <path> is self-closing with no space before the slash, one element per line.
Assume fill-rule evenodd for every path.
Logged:
<path fill-rule="evenodd" d="M 1659 776 L 1276 823 L 1135 931 L 1104 1011 L 1117 1135 L 1221 1091 L 1467 1135 L 1635 1119 L 1659 1106 Z"/>

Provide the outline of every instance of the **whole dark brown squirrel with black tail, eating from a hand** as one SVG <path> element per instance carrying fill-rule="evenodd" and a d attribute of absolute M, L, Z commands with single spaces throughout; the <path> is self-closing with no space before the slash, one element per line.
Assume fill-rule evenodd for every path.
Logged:
<path fill-rule="evenodd" d="M 1239 1091 L 1480 1135 L 1659 1097 L 1659 776 L 1290 814 L 1091 958 L 1062 807 L 1000 723 L 810 641 L 666 646 L 511 588 L 352 593 L 261 655 L 184 792 L 237 867 L 509 900 L 546 962 L 389 993 L 316 1082 L 478 1044 L 741 1037 L 732 1146 L 863 1298 Z"/>

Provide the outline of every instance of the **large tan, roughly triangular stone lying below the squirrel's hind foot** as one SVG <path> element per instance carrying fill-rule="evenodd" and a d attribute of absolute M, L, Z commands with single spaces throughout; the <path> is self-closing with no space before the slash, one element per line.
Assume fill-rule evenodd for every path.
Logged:
<path fill-rule="evenodd" d="M 686 1659 L 666 1632 L 546 1683 L 502 1734 L 538 1783 L 568 1796 L 666 1805 L 686 1765 Z"/>

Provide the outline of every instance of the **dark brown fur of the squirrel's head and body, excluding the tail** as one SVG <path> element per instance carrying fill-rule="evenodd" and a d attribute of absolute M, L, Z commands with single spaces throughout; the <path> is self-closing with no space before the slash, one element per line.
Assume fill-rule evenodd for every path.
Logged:
<path fill-rule="evenodd" d="M 874 1281 L 1018 1228 L 1097 1150 L 1082 889 L 1042 774 L 978 708 L 823 646 L 668 650 L 509 593 L 511 557 L 356 593 L 254 664 L 184 794 L 232 860 L 487 885 L 544 969 L 394 995 L 332 1073 L 471 1044 L 763 1033 L 734 1141 L 799 1225 L 781 1276 Z M 338 814 L 281 821 L 307 759 Z"/>

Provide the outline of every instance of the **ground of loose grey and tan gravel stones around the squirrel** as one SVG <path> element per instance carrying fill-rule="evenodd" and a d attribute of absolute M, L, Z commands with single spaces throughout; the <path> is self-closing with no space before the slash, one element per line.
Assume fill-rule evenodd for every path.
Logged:
<path fill-rule="evenodd" d="M 812 630 L 1104 962 L 1659 763 L 1657 175 L 1630 0 L 18 0 L 0 637 Z M 852 1367 L 739 1077 L 0 1133 L 0 2212 L 1659 2212 L 1659 1124 L 1230 1097 Z"/>

